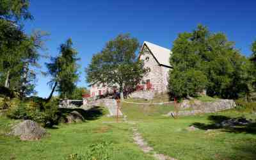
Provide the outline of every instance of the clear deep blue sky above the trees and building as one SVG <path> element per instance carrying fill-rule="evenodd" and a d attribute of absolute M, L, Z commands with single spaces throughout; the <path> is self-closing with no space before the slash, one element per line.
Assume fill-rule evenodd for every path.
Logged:
<path fill-rule="evenodd" d="M 42 29 L 51 33 L 46 43 L 51 56 L 58 54 L 58 47 L 72 38 L 81 58 L 78 86 L 87 86 L 84 67 L 92 55 L 120 33 L 131 33 L 140 40 L 147 40 L 166 48 L 178 33 L 192 31 L 197 24 L 204 24 L 212 32 L 223 32 L 236 42 L 237 49 L 248 56 L 250 45 L 256 40 L 256 1 L 234 0 L 179 0 L 179 1 L 79 1 L 31 0 L 30 11 L 35 20 L 25 22 L 25 30 Z M 44 63 L 41 59 L 42 70 Z M 47 97 L 49 77 L 38 75 L 36 90 L 40 97 Z"/>

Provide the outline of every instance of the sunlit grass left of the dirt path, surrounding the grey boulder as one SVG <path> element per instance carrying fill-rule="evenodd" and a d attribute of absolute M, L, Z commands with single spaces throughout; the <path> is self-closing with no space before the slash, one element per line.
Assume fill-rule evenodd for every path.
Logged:
<path fill-rule="evenodd" d="M 0 116 L 0 159 L 152 159 L 132 141 L 129 124 L 102 116 L 81 124 L 47 129 L 51 135 L 39 141 L 6 136 L 14 122 Z"/>

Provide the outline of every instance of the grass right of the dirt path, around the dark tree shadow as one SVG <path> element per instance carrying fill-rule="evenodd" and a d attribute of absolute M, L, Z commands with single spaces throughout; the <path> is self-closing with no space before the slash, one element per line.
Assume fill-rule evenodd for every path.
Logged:
<path fill-rule="evenodd" d="M 164 116 L 150 116 L 141 113 L 141 108 L 123 104 L 122 109 L 128 120 L 137 120 L 136 124 L 143 138 L 157 152 L 177 159 L 256 159 L 256 125 L 240 130 L 199 129 L 188 131 L 193 124 L 211 126 L 213 116 L 256 119 L 251 113 L 232 110 L 221 113 L 186 116 L 173 119 Z M 140 117 L 140 118 L 139 118 Z"/>

